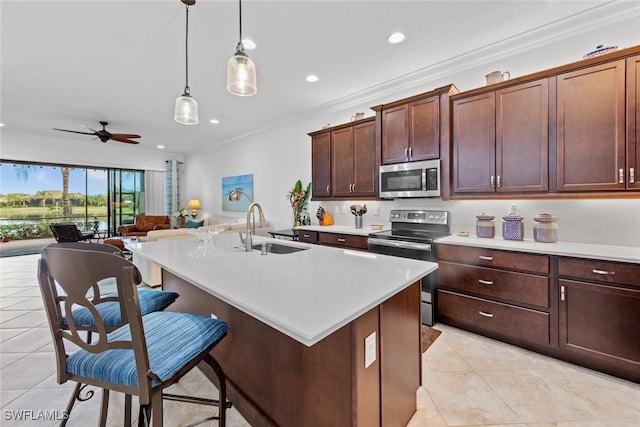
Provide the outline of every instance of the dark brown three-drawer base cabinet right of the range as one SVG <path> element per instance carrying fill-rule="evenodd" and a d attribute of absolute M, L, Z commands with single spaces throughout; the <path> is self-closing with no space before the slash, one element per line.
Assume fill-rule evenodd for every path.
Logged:
<path fill-rule="evenodd" d="M 438 245 L 438 321 L 552 344 L 549 257 Z"/>

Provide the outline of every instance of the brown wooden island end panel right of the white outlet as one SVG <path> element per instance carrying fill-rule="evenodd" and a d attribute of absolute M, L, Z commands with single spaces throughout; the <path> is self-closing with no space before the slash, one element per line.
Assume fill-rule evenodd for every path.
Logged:
<path fill-rule="evenodd" d="M 382 425 L 406 426 L 421 384 L 420 282 L 380 305 Z"/>

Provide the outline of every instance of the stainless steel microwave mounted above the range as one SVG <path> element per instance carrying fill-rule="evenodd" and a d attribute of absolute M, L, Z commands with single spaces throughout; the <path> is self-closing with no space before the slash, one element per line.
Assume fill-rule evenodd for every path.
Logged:
<path fill-rule="evenodd" d="M 440 160 L 380 166 L 380 198 L 440 197 Z"/>

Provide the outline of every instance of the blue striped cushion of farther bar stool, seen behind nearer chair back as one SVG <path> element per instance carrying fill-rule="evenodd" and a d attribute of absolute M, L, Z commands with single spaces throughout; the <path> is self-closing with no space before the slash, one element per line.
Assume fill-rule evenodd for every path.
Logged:
<path fill-rule="evenodd" d="M 161 311 L 167 308 L 178 298 L 176 292 L 171 291 L 155 291 L 153 289 L 138 290 L 138 299 L 140 300 L 140 312 L 145 314 Z M 96 309 L 104 325 L 107 327 L 118 327 L 122 325 L 122 317 L 120 316 L 120 303 L 118 301 L 108 301 L 97 304 Z M 80 326 L 96 326 L 93 315 L 86 307 L 78 307 L 72 311 L 73 321 Z M 67 319 L 63 319 L 63 324 L 67 325 Z"/>

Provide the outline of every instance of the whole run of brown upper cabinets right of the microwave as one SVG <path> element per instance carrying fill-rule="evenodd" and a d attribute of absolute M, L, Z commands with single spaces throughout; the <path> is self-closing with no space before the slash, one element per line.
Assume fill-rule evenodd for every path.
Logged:
<path fill-rule="evenodd" d="M 454 198 L 636 197 L 640 47 L 451 98 Z"/>

